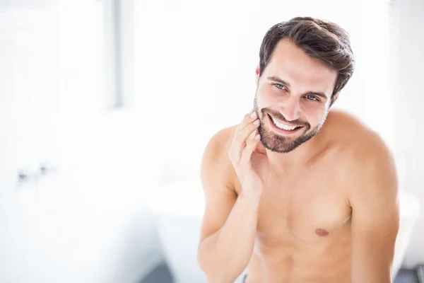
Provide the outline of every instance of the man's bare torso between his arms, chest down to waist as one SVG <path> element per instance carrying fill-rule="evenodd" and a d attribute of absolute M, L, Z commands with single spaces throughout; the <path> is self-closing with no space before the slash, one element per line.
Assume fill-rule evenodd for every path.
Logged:
<path fill-rule="evenodd" d="M 340 154 L 329 147 L 307 168 L 270 168 L 247 283 L 351 282 L 351 207 Z"/>

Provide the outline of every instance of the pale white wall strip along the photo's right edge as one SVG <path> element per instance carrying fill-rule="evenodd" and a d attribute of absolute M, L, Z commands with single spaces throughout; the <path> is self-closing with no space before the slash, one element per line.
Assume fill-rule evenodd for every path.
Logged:
<path fill-rule="evenodd" d="M 400 0 L 399 69 L 396 70 L 396 138 L 397 151 L 406 166 L 405 190 L 424 204 L 424 1 Z M 423 215 L 423 214 L 422 214 Z M 424 263 L 424 216 L 411 239 L 406 255 L 406 267 Z"/>

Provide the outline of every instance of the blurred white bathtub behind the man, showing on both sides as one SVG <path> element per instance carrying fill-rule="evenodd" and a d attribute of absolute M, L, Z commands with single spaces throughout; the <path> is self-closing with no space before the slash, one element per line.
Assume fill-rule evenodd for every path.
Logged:
<path fill-rule="evenodd" d="M 197 263 L 197 246 L 204 214 L 204 195 L 200 180 L 167 183 L 152 197 L 164 258 L 177 283 L 207 282 Z M 399 271 L 420 214 L 418 199 L 400 193 L 400 226 L 396 238 L 392 275 Z M 237 278 L 242 282 L 245 272 Z M 394 277 L 393 276 L 393 277 Z"/>

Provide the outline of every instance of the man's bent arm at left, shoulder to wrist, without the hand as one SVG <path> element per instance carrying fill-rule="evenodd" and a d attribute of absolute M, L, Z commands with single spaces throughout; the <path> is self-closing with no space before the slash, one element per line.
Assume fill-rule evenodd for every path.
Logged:
<path fill-rule="evenodd" d="M 209 141 L 201 163 L 206 210 L 201 226 L 198 262 L 208 282 L 234 282 L 253 253 L 259 198 L 237 197 L 225 140 L 225 129 Z"/>

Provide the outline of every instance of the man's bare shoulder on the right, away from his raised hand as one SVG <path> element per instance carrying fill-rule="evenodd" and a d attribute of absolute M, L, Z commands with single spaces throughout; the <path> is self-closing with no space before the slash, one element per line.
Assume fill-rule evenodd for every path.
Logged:
<path fill-rule="evenodd" d="M 361 187 L 368 187 L 365 183 L 374 183 L 375 190 L 396 190 L 394 158 L 377 132 L 341 110 L 330 112 L 326 122 L 326 130 L 332 133 L 336 144 L 339 173 L 348 187 L 358 192 Z"/>

